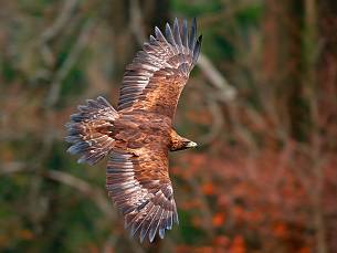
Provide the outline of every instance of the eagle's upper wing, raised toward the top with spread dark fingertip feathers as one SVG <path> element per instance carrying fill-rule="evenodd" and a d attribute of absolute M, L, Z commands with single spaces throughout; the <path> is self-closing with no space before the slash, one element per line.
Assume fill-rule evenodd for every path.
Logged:
<path fill-rule="evenodd" d="M 185 20 L 176 19 L 173 29 L 166 24 L 164 35 L 158 28 L 124 74 L 118 110 L 141 108 L 173 117 L 180 93 L 188 81 L 200 52 L 193 20 L 190 32 Z"/>

